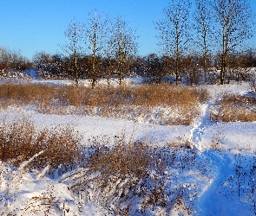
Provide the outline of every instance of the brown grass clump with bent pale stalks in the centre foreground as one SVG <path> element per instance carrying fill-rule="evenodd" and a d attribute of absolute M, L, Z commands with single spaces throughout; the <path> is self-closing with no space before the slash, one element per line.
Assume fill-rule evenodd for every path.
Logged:
<path fill-rule="evenodd" d="M 127 141 L 125 135 L 115 137 L 114 143 L 97 138 L 90 144 L 86 171 L 75 175 L 70 188 L 75 194 L 85 193 L 83 201 L 116 206 L 135 195 L 151 160 L 146 143 Z"/>

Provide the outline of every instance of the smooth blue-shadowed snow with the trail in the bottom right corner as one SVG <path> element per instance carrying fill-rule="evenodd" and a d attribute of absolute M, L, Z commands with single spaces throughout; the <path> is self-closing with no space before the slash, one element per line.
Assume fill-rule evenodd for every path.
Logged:
<path fill-rule="evenodd" d="M 252 172 L 250 163 L 253 158 L 246 155 L 240 155 L 239 158 L 235 153 L 218 150 L 209 150 L 203 154 L 213 163 L 215 175 L 207 190 L 199 197 L 199 215 L 254 215 L 254 192 L 252 194 L 249 187 L 250 178 L 248 177 L 247 182 L 245 177 Z M 237 173 L 237 168 L 240 168 L 240 174 Z M 238 187 L 239 181 L 243 182 L 241 188 Z"/>

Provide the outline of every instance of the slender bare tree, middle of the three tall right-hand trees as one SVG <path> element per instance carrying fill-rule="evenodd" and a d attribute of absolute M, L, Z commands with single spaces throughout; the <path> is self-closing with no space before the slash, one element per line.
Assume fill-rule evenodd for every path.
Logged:
<path fill-rule="evenodd" d="M 209 46 L 211 40 L 211 16 L 210 0 L 195 0 L 196 11 L 194 15 L 194 25 L 198 37 L 199 48 L 202 53 L 202 67 L 204 71 L 205 84 L 207 83 L 207 67 L 209 66 Z"/>

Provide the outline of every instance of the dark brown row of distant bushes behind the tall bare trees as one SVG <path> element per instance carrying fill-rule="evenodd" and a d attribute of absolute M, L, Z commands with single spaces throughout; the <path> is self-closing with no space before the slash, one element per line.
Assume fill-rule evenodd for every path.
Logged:
<path fill-rule="evenodd" d="M 60 54 L 35 54 L 33 61 L 15 52 L 8 53 L 0 48 L 0 76 L 8 76 L 11 70 L 23 71 L 34 68 L 41 79 L 75 79 L 73 56 Z M 91 56 L 79 54 L 77 67 L 80 79 L 91 79 Z M 213 84 L 220 79 L 220 54 L 208 59 L 207 83 Z M 97 56 L 96 79 L 119 78 L 118 60 Z M 124 77 L 144 77 L 151 83 L 175 82 L 175 60 L 166 55 L 148 54 L 146 56 L 130 56 L 124 67 Z M 251 79 L 252 67 L 256 67 L 256 49 L 230 56 L 226 68 L 226 83 L 230 80 Z M 181 57 L 181 82 L 187 85 L 204 83 L 203 57 L 197 53 Z"/>

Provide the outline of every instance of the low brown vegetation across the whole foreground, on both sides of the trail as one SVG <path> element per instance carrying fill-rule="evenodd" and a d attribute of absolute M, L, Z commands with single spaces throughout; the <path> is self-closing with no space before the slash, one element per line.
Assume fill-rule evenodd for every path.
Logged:
<path fill-rule="evenodd" d="M 203 193 L 200 184 L 206 187 L 213 181 L 219 161 L 229 164 L 231 160 L 232 175 L 225 175 L 217 189 L 226 196 L 246 198 L 250 211 L 256 211 L 255 154 L 244 158 L 218 148 L 198 154 L 186 140 L 157 147 L 125 133 L 114 140 L 92 137 L 84 147 L 81 138 L 70 125 L 36 129 L 30 118 L 3 119 L 0 183 L 8 183 L 1 194 L 0 213 L 58 215 L 69 213 L 72 205 L 72 213 L 83 213 L 82 207 L 93 203 L 105 209 L 106 215 L 193 215 Z M 43 194 L 12 207 L 27 172 L 41 179 L 49 174 L 52 181 Z M 58 183 L 68 188 L 74 200 L 57 195 L 54 185 Z"/>

